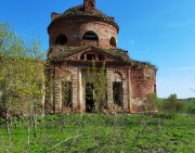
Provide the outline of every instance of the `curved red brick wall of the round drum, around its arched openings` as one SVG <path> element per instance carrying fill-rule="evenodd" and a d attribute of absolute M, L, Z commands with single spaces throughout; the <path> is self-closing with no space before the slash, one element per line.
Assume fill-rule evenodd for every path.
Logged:
<path fill-rule="evenodd" d="M 92 30 L 99 36 L 99 42 L 96 43 L 99 47 L 113 48 L 109 44 L 109 39 L 115 37 L 117 40 L 117 28 L 115 26 L 93 16 L 75 16 L 53 22 L 49 26 L 50 46 L 55 44 L 56 37 L 60 34 L 67 37 L 67 46 L 82 46 L 82 36 L 88 30 Z M 91 44 L 94 44 L 94 42 L 91 42 Z"/>

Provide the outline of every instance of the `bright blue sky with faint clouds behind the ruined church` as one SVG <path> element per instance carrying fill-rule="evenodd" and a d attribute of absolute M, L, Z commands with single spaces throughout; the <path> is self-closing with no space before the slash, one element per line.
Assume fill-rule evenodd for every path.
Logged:
<path fill-rule="evenodd" d="M 0 21 L 9 22 L 26 41 L 39 38 L 47 51 L 51 12 L 82 0 L 0 0 Z M 158 67 L 157 94 L 195 97 L 195 0 L 96 0 L 96 8 L 114 16 L 120 27 L 118 48 L 133 60 Z"/>

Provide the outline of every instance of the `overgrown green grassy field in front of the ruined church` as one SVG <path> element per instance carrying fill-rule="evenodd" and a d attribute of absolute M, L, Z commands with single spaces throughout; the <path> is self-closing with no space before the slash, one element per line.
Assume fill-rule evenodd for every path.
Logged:
<path fill-rule="evenodd" d="M 37 138 L 32 120 L 32 118 L 13 118 L 9 137 L 5 120 L 0 119 L 0 152 L 195 153 L 193 115 L 38 116 Z"/>

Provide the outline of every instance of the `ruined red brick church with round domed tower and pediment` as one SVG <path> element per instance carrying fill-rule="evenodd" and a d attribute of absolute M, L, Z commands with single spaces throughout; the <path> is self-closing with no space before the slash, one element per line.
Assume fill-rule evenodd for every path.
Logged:
<path fill-rule="evenodd" d="M 117 48 L 119 26 L 114 17 L 99 11 L 95 0 L 83 0 L 83 4 L 52 13 L 51 17 L 46 100 L 49 112 L 60 113 L 64 107 L 92 112 L 94 102 L 89 97 L 93 95 L 89 94 L 86 76 L 93 61 L 105 63 L 106 109 L 143 112 L 146 97 L 156 93 L 156 68 Z"/>

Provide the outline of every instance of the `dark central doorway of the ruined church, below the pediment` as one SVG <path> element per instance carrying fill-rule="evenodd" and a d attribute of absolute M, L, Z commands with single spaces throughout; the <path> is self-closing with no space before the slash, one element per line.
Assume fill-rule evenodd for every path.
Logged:
<path fill-rule="evenodd" d="M 86 112 L 92 113 L 94 111 L 94 85 L 86 84 Z"/>

